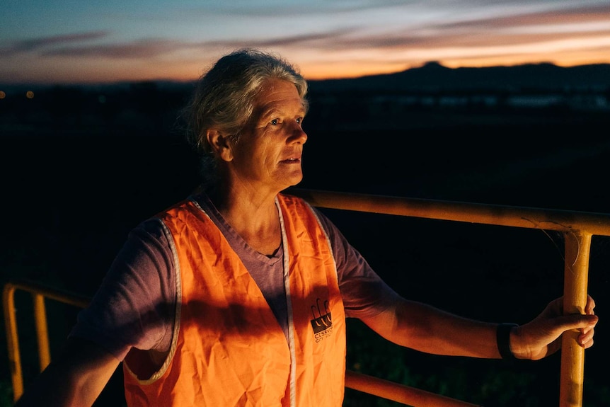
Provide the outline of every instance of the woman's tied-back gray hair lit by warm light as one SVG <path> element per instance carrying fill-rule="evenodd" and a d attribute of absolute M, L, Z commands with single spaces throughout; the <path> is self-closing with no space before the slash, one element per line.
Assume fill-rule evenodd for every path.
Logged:
<path fill-rule="evenodd" d="M 260 50 L 242 49 L 221 57 L 203 74 L 188 105 L 188 141 L 209 153 L 207 130 L 215 128 L 238 141 L 253 114 L 253 100 L 266 79 L 282 79 L 297 87 L 307 107 L 307 82 L 289 62 Z"/>

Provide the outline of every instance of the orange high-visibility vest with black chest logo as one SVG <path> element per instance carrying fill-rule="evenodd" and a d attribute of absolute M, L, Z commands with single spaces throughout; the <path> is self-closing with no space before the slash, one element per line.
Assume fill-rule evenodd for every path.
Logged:
<path fill-rule="evenodd" d="M 171 352 L 148 380 L 123 364 L 128 406 L 341 406 L 345 312 L 330 241 L 303 200 L 277 202 L 288 341 L 221 231 L 196 202 L 181 202 L 159 215 L 179 267 Z"/>

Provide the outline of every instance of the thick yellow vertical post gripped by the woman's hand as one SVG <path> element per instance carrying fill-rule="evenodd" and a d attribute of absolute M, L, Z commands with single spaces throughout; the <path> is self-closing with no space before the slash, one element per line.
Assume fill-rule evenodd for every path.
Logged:
<path fill-rule="evenodd" d="M 565 236 L 563 314 L 585 314 L 591 234 L 570 231 Z M 585 350 L 578 345 L 577 329 L 561 338 L 560 407 L 582 407 Z"/>

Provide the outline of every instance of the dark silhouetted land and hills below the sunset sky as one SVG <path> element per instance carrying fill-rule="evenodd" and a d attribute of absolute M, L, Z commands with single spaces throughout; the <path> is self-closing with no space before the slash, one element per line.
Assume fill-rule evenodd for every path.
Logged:
<path fill-rule="evenodd" d="M 93 294 L 130 229 L 195 188 L 197 156 L 179 120 L 193 86 L 0 84 L 3 285 L 25 278 Z M 610 213 L 609 64 L 430 62 L 311 81 L 309 102 L 301 188 Z M 405 297 L 524 323 L 563 293 L 560 234 L 323 212 Z M 610 403 L 609 245 L 594 237 L 589 265 L 602 318 L 586 352 L 590 407 Z M 50 312 L 56 350 L 74 311 Z M 558 405 L 559 355 L 514 363 L 437 357 L 388 345 L 357 323 L 349 334 L 350 369 L 485 406 Z M 35 349 L 35 338 L 22 340 L 26 352 Z M 5 341 L 3 334 L 0 406 L 10 390 Z M 30 378 L 33 357 L 24 362 Z M 117 394 L 109 389 L 97 405 L 117 405 Z M 345 405 L 394 404 L 348 391 Z"/>

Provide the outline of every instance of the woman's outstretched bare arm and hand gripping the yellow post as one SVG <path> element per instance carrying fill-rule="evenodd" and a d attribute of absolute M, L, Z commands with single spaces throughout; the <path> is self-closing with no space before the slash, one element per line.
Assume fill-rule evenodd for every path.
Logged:
<path fill-rule="evenodd" d="M 520 359 L 541 359 L 560 347 L 561 334 L 579 329 L 578 341 L 584 348 L 593 345 L 594 302 L 587 301 L 584 315 L 561 314 L 562 300 L 556 299 L 529 323 L 510 333 L 510 348 Z M 497 350 L 497 323 L 462 318 L 420 302 L 400 299 L 374 318 L 363 320 L 370 328 L 393 343 L 436 355 L 500 358 Z"/>

